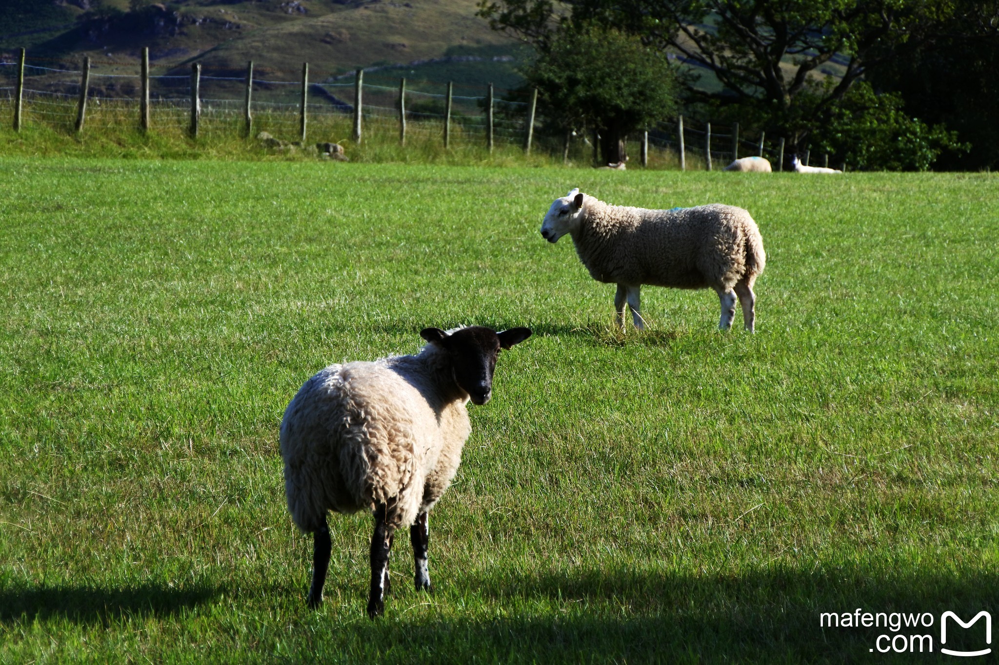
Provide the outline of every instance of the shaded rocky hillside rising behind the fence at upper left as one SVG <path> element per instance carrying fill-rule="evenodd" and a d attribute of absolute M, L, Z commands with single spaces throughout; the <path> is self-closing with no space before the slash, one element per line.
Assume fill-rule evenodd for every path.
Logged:
<path fill-rule="evenodd" d="M 313 80 L 379 65 L 406 65 L 392 76 L 418 80 L 519 80 L 517 43 L 476 16 L 476 0 L 186 0 L 134 11 L 128 0 L 0 0 L 0 15 L 8 56 L 20 46 L 60 61 L 89 55 L 108 71 L 133 69 L 149 46 L 153 65 L 168 70 L 198 61 L 236 73 L 253 60 L 290 76 L 309 62 Z"/>

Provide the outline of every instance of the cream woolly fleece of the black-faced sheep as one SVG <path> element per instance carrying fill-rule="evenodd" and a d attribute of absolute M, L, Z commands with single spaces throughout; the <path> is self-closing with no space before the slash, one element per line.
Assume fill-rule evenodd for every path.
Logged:
<path fill-rule="evenodd" d="M 320 528 L 327 510 L 376 503 L 388 504 L 388 525 L 409 526 L 444 495 L 472 431 L 469 397 L 446 356 L 428 344 L 413 356 L 331 365 L 302 386 L 281 424 L 285 491 L 299 528 Z"/>

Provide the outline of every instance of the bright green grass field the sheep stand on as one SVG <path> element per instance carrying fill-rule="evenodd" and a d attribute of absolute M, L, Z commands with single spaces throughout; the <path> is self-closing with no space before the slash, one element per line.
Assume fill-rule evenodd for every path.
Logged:
<path fill-rule="evenodd" d="M 999 612 L 995 175 L 0 171 L 0 662 L 912 662 L 937 623 L 933 656 L 878 654 L 894 632 L 819 613 Z M 613 287 L 537 232 L 575 185 L 748 208 L 757 334 L 654 288 L 616 333 Z M 307 610 L 285 406 L 461 323 L 534 336 L 470 408 L 435 593 L 399 538 L 369 621 L 372 522 L 335 515 Z"/>

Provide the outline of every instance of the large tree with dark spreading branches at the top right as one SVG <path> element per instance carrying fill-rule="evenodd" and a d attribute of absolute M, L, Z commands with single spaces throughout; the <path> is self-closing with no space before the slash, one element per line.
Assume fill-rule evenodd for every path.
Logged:
<path fill-rule="evenodd" d="M 597 22 L 675 51 L 720 83 L 706 92 L 688 77 L 689 99 L 737 104 L 794 144 L 895 47 L 931 34 L 948 1 L 482 0 L 480 15 L 542 49 L 566 26 Z"/>

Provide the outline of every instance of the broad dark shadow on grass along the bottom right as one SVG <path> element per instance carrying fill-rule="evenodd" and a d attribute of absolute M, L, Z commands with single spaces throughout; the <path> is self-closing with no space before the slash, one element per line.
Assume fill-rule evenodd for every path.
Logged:
<path fill-rule="evenodd" d="M 849 568 L 741 576 L 592 570 L 466 578 L 460 584 L 469 584 L 469 595 L 509 607 L 509 614 L 458 621 L 404 619 L 385 626 L 359 623 L 355 624 L 355 637 L 362 644 L 405 644 L 404 652 L 443 652 L 448 654 L 446 660 L 462 662 L 497 658 L 629 663 L 866 662 L 875 658 L 890 662 L 897 658 L 911 662 L 914 657 L 941 657 L 943 612 L 954 611 L 964 621 L 983 609 L 996 616 L 997 582 L 999 576 L 981 571 L 923 575 Z M 404 605 L 410 598 L 400 600 Z M 546 605 L 555 610 L 543 609 Z M 528 609 L 520 609 L 524 607 Z M 819 626 L 822 612 L 835 612 L 840 617 L 849 612 L 852 616 L 858 607 L 862 608 L 860 615 L 929 612 L 932 623 L 928 627 L 903 623 L 898 631 L 890 626 Z M 392 609 L 389 612 L 391 616 Z M 968 629 L 949 623 L 946 646 L 985 648 L 984 623 L 979 621 Z M 876 641 L 882 634 L 889 639 L 906 636 L 906 651 L 909 635 L 929 635 L 932 654 L 919 653 L 918 640 L 913 643 L 918 655 L 895 653 L 884 640 L 880 646 L 889 650 L 878 653 Z"/>

